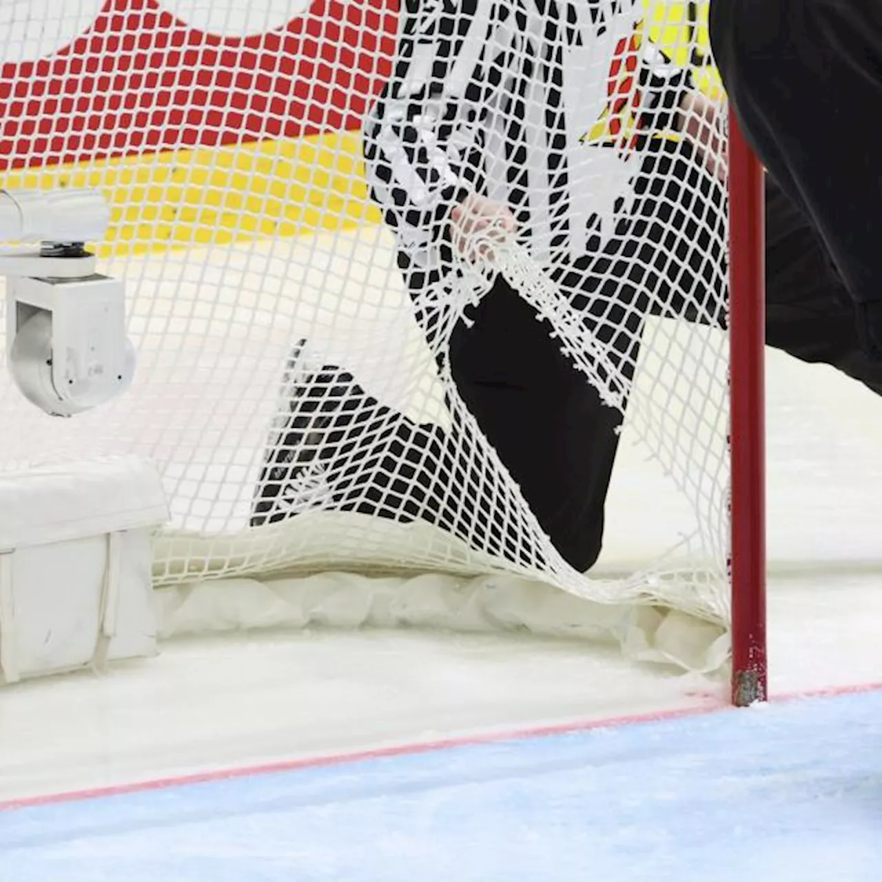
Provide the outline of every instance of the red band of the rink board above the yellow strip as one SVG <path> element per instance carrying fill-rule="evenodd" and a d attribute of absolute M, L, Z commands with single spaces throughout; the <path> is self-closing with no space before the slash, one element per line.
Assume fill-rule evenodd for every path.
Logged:
<path fill-rule="evenodd" d="M 391 69 L 397 0 L 315 0 L 268 34 L 206 34 L 108 0 L 53 56 L 0 70 L 0 168 L 358 127 Z"/>

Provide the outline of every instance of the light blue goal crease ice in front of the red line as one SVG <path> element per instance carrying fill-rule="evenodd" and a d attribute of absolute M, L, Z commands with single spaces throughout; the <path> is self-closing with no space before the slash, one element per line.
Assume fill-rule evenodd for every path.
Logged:
<path fill-rule="evenodd" d="M 879 882 L 882 693 L 6 811 L 0 879 Z"/>

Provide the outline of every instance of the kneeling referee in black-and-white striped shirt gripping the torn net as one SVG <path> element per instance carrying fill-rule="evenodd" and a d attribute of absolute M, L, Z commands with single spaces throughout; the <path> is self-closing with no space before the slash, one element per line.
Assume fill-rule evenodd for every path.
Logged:
<path fill-rule="evenodd" d="M 392 78 L 366 123 L 365 160 L 417 321 L 468 414 L 453 407 L 446 431 L 415 424 L 344 368 L 310 366 L 298 349 L 291 412 L 270 445 L 252 524 L 330 498 L 523 556 L 512 525 L 482 520 L 471 494 L 437 504 L 451 496 L 439 481 L 474 485 L 485 467 L 451 442 L 474 419 L 560 554 L 579 571 L 594 564 L 623 415 L 493 273 L 493 243 L 517 238 L 626 379 L 647 314 L 723 321 L 714 309 L 725 199 L 716 108 L 647 39 L 642 9 L 407 4 Z M 771 180 L 767 224 L 767 342 L 882 392 L 841 280 Z M 481 294 L 464 313 L 463 290 Z"/>

